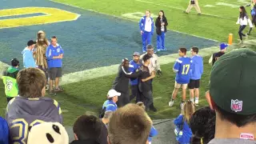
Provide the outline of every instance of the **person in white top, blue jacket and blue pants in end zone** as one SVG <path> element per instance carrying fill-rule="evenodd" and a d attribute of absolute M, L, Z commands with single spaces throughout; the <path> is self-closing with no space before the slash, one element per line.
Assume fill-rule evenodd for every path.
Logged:
<path fill-rule="evenodd" d="M 138 23 L 142 34 L 142 51 L 146 52 L 146 45 L 151 44 L 151 38 L 154 34 L 154 19 L 150 17 L 150 10 L 146 10 L 145 16 Z"/>

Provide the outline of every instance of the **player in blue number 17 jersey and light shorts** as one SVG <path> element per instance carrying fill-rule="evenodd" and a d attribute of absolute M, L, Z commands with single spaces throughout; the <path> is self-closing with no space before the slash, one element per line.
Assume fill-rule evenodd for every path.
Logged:
<path fill-rule="evenodd" d="M 180 58 L 176 59 L 174 64 L 174 72 L 176 73 L 175 78 L 175 89 L 170 99 L 169 106 L 174 105 L 174 99 L 178 94 L 178 89 L 182 87 L 182 103 L 186 100 L 186 87 L 190 83 L 190 66 L 192 63 L 191 58 L 186 57 L 186 48 L 179 48 L 178 55 Z"/>

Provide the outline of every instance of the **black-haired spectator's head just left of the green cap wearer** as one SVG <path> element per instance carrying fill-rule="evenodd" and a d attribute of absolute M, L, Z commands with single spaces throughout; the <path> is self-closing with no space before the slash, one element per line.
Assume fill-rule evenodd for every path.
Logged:
<path fill-rule="evenodd" d="M 214 125 L 211 123 L 208 123 L 210 119 L 214 119 Z M 210 124 L 208 126 L 207 124 Z M 190 118 L 190 128 L 193 133 L 192 137 L 192 143 L 197 143 L 203 141 L 203 143 L 208 143 L 212 139 L 208 139 L 209 135 L 212 135 L 212 132 L 210 134 L 206 133 L 206 129 L 210 129 L 213 131 L 213 135 L 215 132 L 215 111 L 210 110 L 210 107 L 203 107 L 192 114 Z"/>

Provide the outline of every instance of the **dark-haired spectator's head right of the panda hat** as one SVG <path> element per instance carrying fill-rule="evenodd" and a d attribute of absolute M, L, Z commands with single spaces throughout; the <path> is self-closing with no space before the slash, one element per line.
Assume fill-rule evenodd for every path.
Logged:
<path fill-rule="evenodd" d="M 106 126 L 94 115 L 84 114 L 80 116 L 73 126 L 74 138 L 80 141 L 102 142 L 107 138 Z"/>

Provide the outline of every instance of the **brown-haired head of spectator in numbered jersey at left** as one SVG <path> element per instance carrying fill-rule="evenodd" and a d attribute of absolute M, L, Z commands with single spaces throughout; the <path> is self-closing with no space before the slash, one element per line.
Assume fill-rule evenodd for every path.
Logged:
<path fill-rule="evenodd" d="M 40 98 L 46 94 L 46 74 L 37 68 L 20 70 L 17 75 L 19 95 L 25 98 Z"/>

